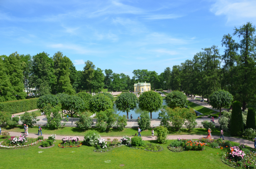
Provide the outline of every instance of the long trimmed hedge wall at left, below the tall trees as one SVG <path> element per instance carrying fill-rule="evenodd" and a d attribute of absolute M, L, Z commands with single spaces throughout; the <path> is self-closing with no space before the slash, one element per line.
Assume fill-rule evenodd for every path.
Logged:
<path fill-rule="evenodd" d="M 0 103 L 0 111 L 11 114 L 36 109 L 38 98 L 13 100 Z"/>

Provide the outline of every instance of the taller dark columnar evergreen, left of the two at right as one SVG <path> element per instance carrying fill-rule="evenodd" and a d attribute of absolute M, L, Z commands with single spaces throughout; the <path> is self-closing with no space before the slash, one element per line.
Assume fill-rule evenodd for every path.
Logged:
<path fill-rule="evenodd" d="M 244 131 L 242 105 L 239 101 L 234 101 L 232 104 L 232 114 L 230 121 L 230 134 L 232 136 L 240 136 Z"/>

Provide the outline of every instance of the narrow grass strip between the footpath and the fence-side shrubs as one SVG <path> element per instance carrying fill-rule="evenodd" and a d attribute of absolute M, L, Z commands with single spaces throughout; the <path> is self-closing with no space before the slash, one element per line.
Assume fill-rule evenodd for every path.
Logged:
<path fill-rule="evenodd" d="M 47 127 L 41 126 L 42 127 L 42 133 L 43 134 L 56 134 L 56 135 L 61 135 L 61 136 L 84 136 L 86 132 L 89 130 L 97 130 L 100 133 L 100 136 L 133 136 L 135 133 L 137 133 L 138 129 L 137 128 L 126 128 L 123 131 L 120 131 L 118 129 L 110 129 L 108 132 L 102 132 L 98 128 L 91 128 L 87 131 L 81 130 L 80 128 L 76 127 L 61 127 L 60 129 L 49 129 Z M 141 132 L 141 136 L 151 136 L 151 129 L 145 130 Z M 2 131 L 13 131 L 13 132 L 20 132 L 24 133 L 23 126 L 18 126 L 17 128 L 9 128 L 9 127 L 2 127 Z M 28 129 L 28 133 L 38 133 L 38 127 L 33 127 Z M 196 128 L 191 132 L 188 132 L 188 129 L 180 129 L 180 132 L 176 132 L 172 129 L 170 129 L 170 133 L 168 135 L 205 135 L 207 136 L 207 130 L 206 129 L 200 129 Z M 219 135 L 220 136 L 220 130 L 219 129 L 214 129 L 212 130 L 212 135 Z M 229 136 L 229 134 L 224 133 L 224 136 Z"/>

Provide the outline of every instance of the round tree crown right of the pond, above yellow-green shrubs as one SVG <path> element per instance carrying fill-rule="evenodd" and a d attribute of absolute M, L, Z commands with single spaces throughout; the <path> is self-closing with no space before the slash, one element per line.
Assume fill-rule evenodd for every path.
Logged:
<path fill-rule="evenodd" d="M 168 107 L 175 108 L 175 107 L 184 107 L 188 100 L 187 96 L 180 91 L 172 91 L 171 93 L 167 94 L 165 97 L 165 102 Z"/>

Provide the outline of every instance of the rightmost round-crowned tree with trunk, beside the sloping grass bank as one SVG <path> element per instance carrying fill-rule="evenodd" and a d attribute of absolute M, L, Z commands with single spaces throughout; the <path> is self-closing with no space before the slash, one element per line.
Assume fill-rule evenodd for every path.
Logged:
<path fill-rule="evenodd" d="M 213 92 L 209 96 L 209 105 L 212 106 L 214 109 L 220 110 L 220 116 L 221 116 L 221 108 L 229 108 L 232 104 L 233 96 L 228 91 L 225 90 L 218 90 Z"/>

